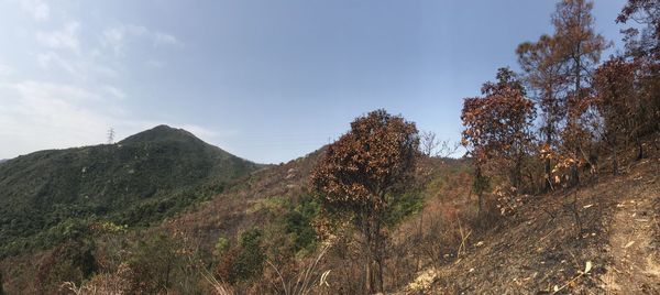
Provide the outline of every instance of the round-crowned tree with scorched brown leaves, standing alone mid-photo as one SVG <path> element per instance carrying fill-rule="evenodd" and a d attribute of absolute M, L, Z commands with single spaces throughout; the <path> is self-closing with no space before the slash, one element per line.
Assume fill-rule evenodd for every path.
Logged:
<path fill-rule="evenodd" d="M 315 167 L 311 185 L 330 214 L 343 214 L 364 238 L 365 291 L 383 292 L 385 219 L 415 167 L 415 123 L 375 110 L 351 123 Z"/>

